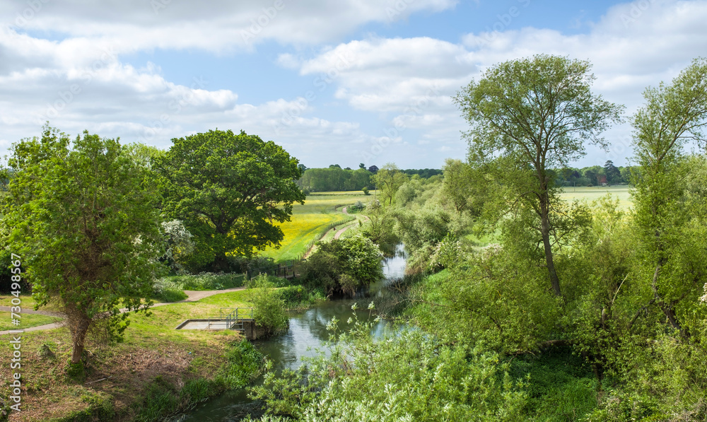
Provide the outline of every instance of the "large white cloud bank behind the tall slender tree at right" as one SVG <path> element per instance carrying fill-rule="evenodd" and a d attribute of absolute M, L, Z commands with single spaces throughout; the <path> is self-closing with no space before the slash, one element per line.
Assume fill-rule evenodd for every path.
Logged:
<path fill-rule="evenodd" d="M 470 33 L 459 44 L 428 37 L 354 40 L 303 61 L 300 73 L 335 74 L 337 98 L 380 113 L 389 127 L 419 129 L 399 130 L 404 138 L 459 143 L 466 124 L 450 97 L 493 64 L 540 53 L 588 59 L 595 91 L 630 113 L 646 86 L 670 81 L 705 54 L 704 22 L 707 1 L 638 0 L 609 8 L 586 34 L 522 28 Z M 624 125 L 607 134 L 619 139 L 624 156 L 630 151 L 621 140 L 629 131 Z"/>

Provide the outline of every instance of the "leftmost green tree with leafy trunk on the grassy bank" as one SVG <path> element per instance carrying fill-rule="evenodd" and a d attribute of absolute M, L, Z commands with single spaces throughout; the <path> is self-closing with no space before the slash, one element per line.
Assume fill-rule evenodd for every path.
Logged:
<path fill-rule="evenodd" d="M 60 305 L 79 363 L 95 327 L 120 334 L 128 310 L 145 310 L 158 269 L 160 216 L 146 170 L 117 139 L 57 129 L 14 143 L 15 177 L 4 199 L 13 253 L 22 257 L 37 306 Z M 120 322 L 125 322 L 121 324 Z"/>

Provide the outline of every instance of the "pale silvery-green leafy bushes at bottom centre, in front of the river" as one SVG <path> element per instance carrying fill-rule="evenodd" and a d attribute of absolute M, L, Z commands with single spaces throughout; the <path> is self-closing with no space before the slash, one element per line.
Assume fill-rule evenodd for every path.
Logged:
<path fill-rule="evenodd" d="M 439 344 L 419 330 L 373 339 L 373 321 L 349 323 L 349 332 L 334 332 L 328 357 L 266 374 L 252 397 L 303 421 L 516 420 L 525 395 L 494 353 Z"/>

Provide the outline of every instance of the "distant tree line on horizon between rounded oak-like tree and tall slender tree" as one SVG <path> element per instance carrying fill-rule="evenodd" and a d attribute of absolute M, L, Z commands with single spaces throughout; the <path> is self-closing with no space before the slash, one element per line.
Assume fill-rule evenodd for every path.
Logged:
<path fill-rule="evenodd" d="M 373 176 L 379 169 L 375 165 L 366 168 L 366 165 L 361 163 L 356 170 L 349 167 L 341 168 L 338 164 L 329 165 L 329 168 L 306 168 L 300 164 L 300 170 L 304 171 L 297 181 L 301 189 L 309 192 L 332 192 L 375 189 L 376 183 Z M 442 174 L 442 170 L 433 168 L 399 171 L 408 176 L 419 175 L 423 179 Z"/>

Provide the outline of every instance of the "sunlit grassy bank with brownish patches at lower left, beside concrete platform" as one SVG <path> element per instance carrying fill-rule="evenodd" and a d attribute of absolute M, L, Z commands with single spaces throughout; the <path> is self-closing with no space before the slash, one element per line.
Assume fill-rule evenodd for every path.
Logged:
<path fill-rule="evenodd" d="M 196 387 L 198 380 L 215 379 L 226 365 L 230 343 L 240 339 L 237 332 L 228 330 L 175 330 L 177 324 L 188 318 L 218 317 L 221 307 L 250 306 L 247 294 L 238 291 L 194 303 L 154 307 L 149 316 L 142 312 L 130 315 L 121 343 L 87 344 L 82 377 L 85 379 L 79 380 L 66 375 L 71 353 L 71 336 L 66 327 L 25 332 L 21 349 L 21 420 L 134 420 L 149 402 L 144 397 L 151 394 L 156 382 L 178 392 L 186 385 Z M 4 341 L 0 354 L 10 356 L 10 347 Z M 9 365 L 0 366 L 4 391 L 14 371 Z M 209 390 L 209 394 L 216 393 Z M 11 415 L 10 420 L 20 420 L 17 416 Z"/>

